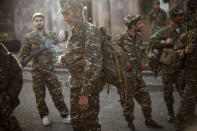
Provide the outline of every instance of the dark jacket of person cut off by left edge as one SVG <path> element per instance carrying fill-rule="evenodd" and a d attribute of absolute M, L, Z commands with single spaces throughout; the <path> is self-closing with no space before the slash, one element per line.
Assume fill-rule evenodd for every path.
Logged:
<path fill-rule="evenodd" d="M 2 48 L 2 44 L 0 44 Z M 5 92 L 10 96 L 10 103 L 12 109 L 19 104 L 19 93 L 23 85 L 22 69 L 14 55 L 8 53 L 6 48 L 6 55 L 0 56 L 0 94 Z M 4 88 L 4 89 L 3 89 Z"/>

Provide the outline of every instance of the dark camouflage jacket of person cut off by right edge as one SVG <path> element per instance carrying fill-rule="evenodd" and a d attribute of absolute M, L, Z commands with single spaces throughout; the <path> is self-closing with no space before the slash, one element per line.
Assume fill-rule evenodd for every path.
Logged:
<path fill-rule="evenodd" d="M 182 59 L 184 64 L 184 72 L 186 79 L 197 81 L 197 47 L 193 50 L 192 54 L 185 54 L 185 47 L 191 43 L 197 44 L 197 31 L 196 29 L 188 31 L 181 35 L 178 41 L 178 50 L 175 55 Z"/>

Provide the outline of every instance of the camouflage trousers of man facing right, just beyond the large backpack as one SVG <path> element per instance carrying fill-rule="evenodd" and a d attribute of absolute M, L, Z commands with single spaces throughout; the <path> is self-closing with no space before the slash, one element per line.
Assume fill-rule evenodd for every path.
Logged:
<path fill-rule="evenodd" d="M 134 120 L 134 100 L 140 104 L 143 115 L 146 120 L 152 118 L 151 99 L 148 91 L 145 88 L 145 82 L 142 77 L 139 77 L 136 82 L 133 80 L 128 81 L 129 87 L 127 91 L 127 100 L 122 99 L 123 115 L 128 123 L 132 123 Z M 125 95 L 125 91 L 121 90 L 121 95 Z"/>

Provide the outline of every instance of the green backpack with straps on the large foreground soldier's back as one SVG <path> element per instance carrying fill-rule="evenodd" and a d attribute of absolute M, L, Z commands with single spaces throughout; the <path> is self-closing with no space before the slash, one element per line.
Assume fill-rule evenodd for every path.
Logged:
<path fill-rule="evenodd" d="M 104 81 L 113 86 L 119 87 L 119 84 L 127 86 L 126 68 L 128 55 L 122 48 L 111 41 L 104 27 L 100 28 L 102 34 L 103 49 L 103 71 L 105 73 Z"/>

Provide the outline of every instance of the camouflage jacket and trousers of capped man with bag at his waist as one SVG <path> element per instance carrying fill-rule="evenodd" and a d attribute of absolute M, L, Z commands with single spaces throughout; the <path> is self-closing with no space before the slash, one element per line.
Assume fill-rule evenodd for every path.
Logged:
<path fill-rule="evenodd" d="M 150 44 L 151 46 L 153 46 L 153 48 L 156 48 L 158 50 L 165 49 L 165 48 L 173 50 L 177 48 L 176 47 L 177 39 L 184 32 L 185 32 L 184 27 L 181 27 L 179 32 L 177 32 L 172 27 L 172 25 L 166 26 L 151 36 Z M 174 40 L 174 44 L 171 47 L 167 47 L 165 45 L 165 41 L 168 38 L 172 38 Z M 178 89 L 179 93 L 183 92 L 184 83 L 182 83 L 182 70 L 179 69 L 178 66 L 176 65 L 161 64 L 161 72 L 162 72 L 162 81 L 163 81 L 163 86 L 164 86 L 164 100 L 166 104 L 173 104 L 174 102 L 173 96 L 172 96 L 173 84 L 176 84 L 176 88 Z"/>

